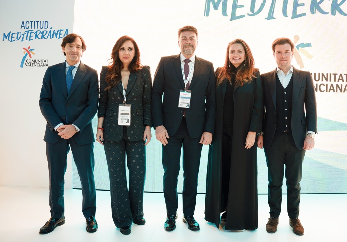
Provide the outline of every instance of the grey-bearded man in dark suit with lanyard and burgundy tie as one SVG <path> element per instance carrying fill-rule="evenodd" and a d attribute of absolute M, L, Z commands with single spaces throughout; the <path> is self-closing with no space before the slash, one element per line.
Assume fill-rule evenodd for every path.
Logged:
<path fill-rule="evenodd" d="M 190 230 L 200 230 L 193 215 L 202 145 L 211 143 L 214 132 L 215 77 L 212 63 L 194 54 L 197 36 L 193 26 L 180 28 L 181 53 L 162 57 L 154 74 L 151 106 L 155 136 L 162 143 L 166 231 L 176 228 L 182 146 L 183 222 Z"/>

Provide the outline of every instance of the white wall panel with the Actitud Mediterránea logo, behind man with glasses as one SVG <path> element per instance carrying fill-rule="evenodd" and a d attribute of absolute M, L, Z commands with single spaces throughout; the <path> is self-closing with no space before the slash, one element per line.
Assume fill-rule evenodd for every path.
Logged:
<path fill-rule="evenodd" d="M 61 38 L 35 39 L 33 35 L 33 40 L 24 38 L 24 41 L 8 41 L 6 38 L 3 40 L 3 33 L 24 33 L 31 29 L 43 31 L 51 27 L 51 30 L 64 29 L 63 34 L 66 29 L 71 33 L 73 20 L 74 1 L 1 0 L 0 185 L 49 186 L 43 141 L 46 121 L 39 108 L 42 79 L 47 67 L 24 65 L 21 68 L 20 63 L 24 56 L 23 47 L 28 46 L 35 49 L 35 55 L 31 59 L 48 59 L 48 65 L 65 60 L 60 47 Z M 21 29 L 22 21 L 48 21 L 49 26 L 47 29 L 40 29 L 40 26 Z M 16 36 L 17 34 L 14 35 L 15 39 Z M 71 168 L 66 174 L 67 184 L 71 184 L 70 177 Z"/>

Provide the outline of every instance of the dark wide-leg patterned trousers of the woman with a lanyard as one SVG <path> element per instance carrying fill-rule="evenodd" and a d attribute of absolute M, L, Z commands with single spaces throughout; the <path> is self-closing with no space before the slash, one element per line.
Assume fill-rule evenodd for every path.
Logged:
<path fill-rule="evenodd" d="M 110 176 L 112 218 L 116 227 L 130 226 L 143 218 L 143 190 L 146 174 L 146 149 L 142 140 L 104 141 Z M 125 154 L 127 161 L 125 163 Z M 129 191 L 125 164 L 129 169 Z"/>

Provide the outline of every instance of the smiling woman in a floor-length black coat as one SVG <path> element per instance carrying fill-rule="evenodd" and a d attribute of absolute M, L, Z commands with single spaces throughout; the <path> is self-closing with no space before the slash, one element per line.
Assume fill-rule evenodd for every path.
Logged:
<path fill-rule="evenodd" d="M 217 114 L 209 149 L 205 220 L 226 230 L 255 230 L 257 217 L 256 133 L 261 132 L 263 89 L 248 45 L 235 39 L 216 70 Z"/>

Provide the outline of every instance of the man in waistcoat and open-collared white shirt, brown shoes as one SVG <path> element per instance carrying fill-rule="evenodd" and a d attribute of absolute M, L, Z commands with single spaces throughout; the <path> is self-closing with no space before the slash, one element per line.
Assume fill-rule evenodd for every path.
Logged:
<path fill-rule="evenodd" d="M 300 181 L 305 151 L 313 149 L 317 133 L 315 91 L 311 73 L 291 65 L 294 44 L 290 39 L 274 40 L 272 51 L 278 67 L 261 75 L 265 115 L 263 135 L 259 134 L 257 139 L 257 146 L 264 147 L 269 176 L 270 218 L 266 231 L 277 231 L 285 174 L 289 224 L 295 234 L 303 235 L 304 228 L 298 219 Z"/>

